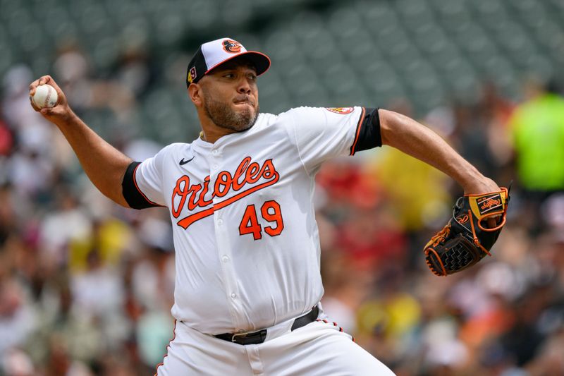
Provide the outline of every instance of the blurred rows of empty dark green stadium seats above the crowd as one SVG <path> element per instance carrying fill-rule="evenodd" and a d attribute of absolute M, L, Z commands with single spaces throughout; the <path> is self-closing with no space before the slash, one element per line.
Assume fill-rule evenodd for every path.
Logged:
<path fill-rule="evenodd" d="M 80 45 L 94 72 L 111 75 L 131 44 L 146 45 L 159 56 L 178 49 L 192 54 L 201 40 L 221 35 L 271 56 L 271 74 L 261 79 L 269 83 L 262 87 L 262 100 L 276 111 L 298 101 L 339 105 L 340 99 L 362 101 L 363 95 L 381 101 L 405 95 L 424 109 L 426 92 L 432 103 L 465 90 L 472 97 L 477 82 L 493 79 L 505 92 L 516 93 L 524 74 L 563 75 L 562 0 L 40 4 L 0 0 L 0 75 L 20 61 L 32 61 L 37 73 L 48 71 L 56 49 L 69 42 Z M 164 73 L 156 73 L 159 83 Z M 170 121 L 190 116 L 185 103 L 163 105 L 166 109 L 147 116 Z"/>

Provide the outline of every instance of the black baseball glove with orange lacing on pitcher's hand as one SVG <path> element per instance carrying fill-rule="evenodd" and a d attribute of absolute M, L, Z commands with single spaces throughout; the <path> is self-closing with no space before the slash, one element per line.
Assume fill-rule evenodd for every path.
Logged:
<path fill-rule="evenodd" d="M 438 276 L 460 272 L 490 255 L 489 250 L 505 224 L 508 202 L 507 188 L 458 198 L 453 217 L 424 247 L 425 262 L 431 272 Z M 492 218 L 496 224 L 488 228 L 488 219 Z"/>

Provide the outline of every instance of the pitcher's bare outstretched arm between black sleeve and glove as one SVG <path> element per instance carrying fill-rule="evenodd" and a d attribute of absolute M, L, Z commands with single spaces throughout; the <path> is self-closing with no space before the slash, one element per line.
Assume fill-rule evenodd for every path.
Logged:
<path fill-rule="evenodd" d="M 396 147 L 457 181 L 465 193 L 497 190 L 496 183 L 484 177 L 439 135 L 407 116 L 379 110 L 382 143 Z"/>

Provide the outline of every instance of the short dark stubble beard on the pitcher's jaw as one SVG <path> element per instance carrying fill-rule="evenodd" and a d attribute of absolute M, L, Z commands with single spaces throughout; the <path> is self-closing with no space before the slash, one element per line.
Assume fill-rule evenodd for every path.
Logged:
<path fill-rule="evenodd" d="M 255 114 L 253 114 L 252 110 L 249 108 L 243 111 L 234 111 L 229 104 L 216 101 L 206 93 L 204 93 L 204 101 L 204 109 L 207 116 L 220 128 L 235 132 L 247 131 L 247 129 L 255 125 L 257 117 L 259 116 L 258 104 L 255 109 Z"/>

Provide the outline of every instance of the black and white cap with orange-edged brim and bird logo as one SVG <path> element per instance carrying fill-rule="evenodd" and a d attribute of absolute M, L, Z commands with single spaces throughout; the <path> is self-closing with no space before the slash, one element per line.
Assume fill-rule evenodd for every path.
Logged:
<path fill-rule="evenodd" d="M 257 51 L 247 51 L 243 44 L 231 38 L 221 38 L 204 43 L 196 51 L 186 73 L 186 85 L 197 83 L 209 71 L 221 64 L 235 59 L 238 56 L 245 56 L 257 69 L 257 75 L 262 75 L 270 67 L 269 56 Z"/>

